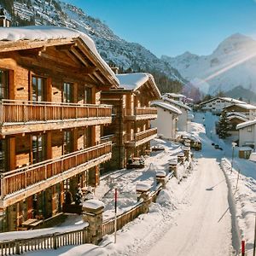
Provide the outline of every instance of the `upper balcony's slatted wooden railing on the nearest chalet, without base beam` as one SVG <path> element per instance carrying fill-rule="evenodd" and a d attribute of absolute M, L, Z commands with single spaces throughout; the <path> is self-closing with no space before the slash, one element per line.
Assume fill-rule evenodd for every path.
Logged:
<path fill-rule="evenodd" d="M 2 100 L 0 110 L 0 124 L 3 124 L 49 122 L 63 119 L 111 118 L 112 106 Z"/>

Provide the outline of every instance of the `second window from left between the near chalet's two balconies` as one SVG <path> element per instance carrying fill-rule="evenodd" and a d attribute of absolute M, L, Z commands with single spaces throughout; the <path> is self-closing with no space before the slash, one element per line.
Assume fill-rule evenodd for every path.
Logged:
<path fill-rule="evenodd" d="M 32 136 L 32 163 L 36 164 L 46 160 L 45 136 Z"/>

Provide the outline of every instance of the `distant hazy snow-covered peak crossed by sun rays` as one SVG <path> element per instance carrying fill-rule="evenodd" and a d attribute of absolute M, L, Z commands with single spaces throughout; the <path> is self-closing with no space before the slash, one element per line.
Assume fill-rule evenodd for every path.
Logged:
<path fill-rule="evenodd" d="M 241 91 L 256 93 L 256 41 L 236 33 L 226 38 L 212 55 L 185 52 L 177 57 L 162 56 L 184 79 L 212 95 Z"/>

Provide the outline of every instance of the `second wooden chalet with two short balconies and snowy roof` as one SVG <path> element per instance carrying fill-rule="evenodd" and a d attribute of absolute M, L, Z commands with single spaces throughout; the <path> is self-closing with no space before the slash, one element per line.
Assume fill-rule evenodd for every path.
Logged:
<path fill-rule="evenodd" d="M 120 88 L 102 92 L 102 102 L 113 105 L 113 124 L 105 127 L 104 135 L 113 135 L 113 159 L 110 169 L 124 168 L 130 156 L 141 156 L 150 149 L 150 140 L 157 129 L 150 127 L 156 119 L 156 108 L 149 103 L 160 98 L 154 77 L 148 73 L 117 75 Z"/>

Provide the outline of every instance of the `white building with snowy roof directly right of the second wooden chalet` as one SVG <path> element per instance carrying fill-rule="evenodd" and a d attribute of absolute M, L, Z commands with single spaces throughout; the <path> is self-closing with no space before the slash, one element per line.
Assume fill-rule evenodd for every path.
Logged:
<path fill-rule="evenodd" d="M 157 119 L 151 121 L 153 127 L 157 127 L 158 135 L 167 139 L 176 139 L 177 119 L 182 111 L 166 102 L 152 102 L 151 106 L 157 108 Z"/>

